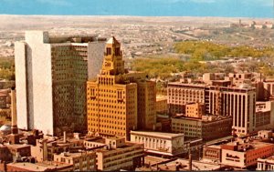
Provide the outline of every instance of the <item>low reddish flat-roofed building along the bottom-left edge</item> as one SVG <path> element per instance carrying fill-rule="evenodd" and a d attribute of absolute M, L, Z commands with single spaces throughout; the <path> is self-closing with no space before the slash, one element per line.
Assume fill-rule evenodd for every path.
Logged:
<path fill-rule="evenodd" d="M 6 165 L 6 171 L 73 171 L 71 165 L 57 163 L 16 162 Z"/>

